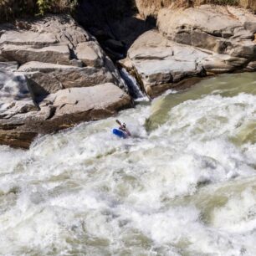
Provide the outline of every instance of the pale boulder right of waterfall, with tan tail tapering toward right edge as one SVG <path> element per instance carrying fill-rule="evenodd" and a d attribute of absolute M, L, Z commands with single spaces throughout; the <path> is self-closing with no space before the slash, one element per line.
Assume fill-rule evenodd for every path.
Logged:
<path fill-rule="evenodd" d="M 155 97 L 188 77 L 243 69 L 248 59 L 178 44 L 151 30 L 136 40 L 121 64 L 134 71 L 146 93 Z"/>

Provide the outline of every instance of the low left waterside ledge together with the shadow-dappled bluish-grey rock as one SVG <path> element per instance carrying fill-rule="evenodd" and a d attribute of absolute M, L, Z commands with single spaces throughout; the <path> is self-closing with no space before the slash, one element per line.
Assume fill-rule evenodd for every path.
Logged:
<path fill-rule="evenodd" d="M 38 134 L 98 120 L 131 106 L 130 96 L 111 83 L 58 90 L 40 99 L 30 94 L 24 75 L 5 70 L 0 76 L 1 144 L 28 148 Z"/>

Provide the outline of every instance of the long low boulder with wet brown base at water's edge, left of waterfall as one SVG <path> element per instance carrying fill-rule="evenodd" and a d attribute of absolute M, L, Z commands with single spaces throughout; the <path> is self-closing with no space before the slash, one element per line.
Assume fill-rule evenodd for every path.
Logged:
<path fill-rule="evenodd" d="M 115 84 L 59 90 L 41 100 L 39 109 L 0 117 L 0 144 L 28 148 L 38 134 L 99 120 L 130 106 L 130 96 Z"/>

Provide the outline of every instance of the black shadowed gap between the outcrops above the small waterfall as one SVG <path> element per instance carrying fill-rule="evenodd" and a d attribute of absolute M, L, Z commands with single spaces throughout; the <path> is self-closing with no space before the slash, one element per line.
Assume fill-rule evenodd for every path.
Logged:
<path fill-rule="evenodd" d="M 77 21 L 100 42 L 113 60 L 124 59 L 142 33 L 156 27 L 156 19 L 138 15 L 132 0 L 81 0 Z"/>

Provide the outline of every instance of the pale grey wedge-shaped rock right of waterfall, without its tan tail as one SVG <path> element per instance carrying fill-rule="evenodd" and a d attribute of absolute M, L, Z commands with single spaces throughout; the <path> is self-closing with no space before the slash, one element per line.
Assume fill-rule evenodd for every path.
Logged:
<path fill-rule="evenodd" d="M 156 96 L 171 84 L 203 73 L 200 61 L 207 53 L 191 46 L 177 44 L 151 30 L 141 35 L 131 46 L 128 57 L 141 78 L 146 93 Z M 127 61 L 123 62 L 129 63 Z M 130 64 L 128 69 L 131 69 Z"/>

